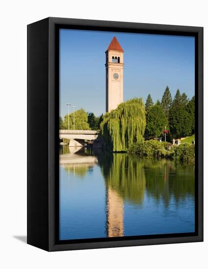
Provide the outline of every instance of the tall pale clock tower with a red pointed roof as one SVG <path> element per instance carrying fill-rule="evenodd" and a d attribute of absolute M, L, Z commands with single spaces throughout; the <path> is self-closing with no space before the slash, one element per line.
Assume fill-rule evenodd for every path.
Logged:
<path fill-rule="evenodd" d="M 123 102 L 123 49 L 114 37 L 106 50 L 106 112 Z"/>

